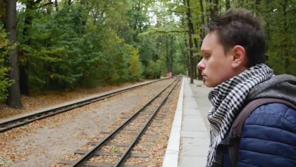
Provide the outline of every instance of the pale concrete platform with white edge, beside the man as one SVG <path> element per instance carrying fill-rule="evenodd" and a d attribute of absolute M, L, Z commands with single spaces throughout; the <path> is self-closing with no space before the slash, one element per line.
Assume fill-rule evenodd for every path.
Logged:
<path fill-rule="evenodd" d="M 209 146 L 209 126 L 205 123 L 211 107 L 201 81 L 189 84 L 184 78 L 168 140 L 163 167 L 204 167 Z M 198 93 L 197 96 L 195 93 Z"/>

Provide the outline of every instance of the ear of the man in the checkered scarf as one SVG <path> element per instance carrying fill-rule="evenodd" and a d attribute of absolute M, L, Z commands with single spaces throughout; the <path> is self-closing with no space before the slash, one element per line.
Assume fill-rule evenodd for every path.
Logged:
<path fill-rule="evenodd" d="M 233 54 L 233 61 L 232 61 L 232 67 L 237 68 L 241 66 L 246 66 L 246 51 L 245 49 L 240 45 L 235 45 L 232 49 Z"/>

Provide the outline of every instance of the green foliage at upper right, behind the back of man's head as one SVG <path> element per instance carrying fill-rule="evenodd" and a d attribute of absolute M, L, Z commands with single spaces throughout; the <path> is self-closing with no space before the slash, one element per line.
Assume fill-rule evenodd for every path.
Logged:
<path fill-rule="evenodd" d="M 264 7 L 263 7 L 264 6 Z M 284 8 L 285 6 L 285 8 Z M 259 12 L 266 21 L 267 63 L 275 74 L 296 76 L 296 2 L 262 1 Z"/>

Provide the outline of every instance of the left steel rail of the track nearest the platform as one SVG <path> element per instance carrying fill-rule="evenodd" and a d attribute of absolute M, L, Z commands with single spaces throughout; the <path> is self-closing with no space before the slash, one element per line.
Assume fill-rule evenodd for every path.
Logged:
<path fill-rule="evenodd" d="M 98 144 L 92 147 L 92 149 L 88 150 L 83 156 L 81 156 L 76 162 L 71 164 L 70 167 L 81 167 L 83 166 L 88 159 L 90 159 L 96 151 L 98 151 L 104 144 L 109 141 L 119 130 L 121 130 L 125 125 L 127 125 L 138 113 L 140 113 L 148 104 L 150 104 L 154 99 L 156 99 L 160 94 L 162 94 L 170 85 L 175 83 L 177 80 L 174 80 L 171 84 L 169 84 L 164 90 L 162 90 L 159 94 L 157 94 L 154 98 L 152 98 L 147 104 L 143 105 L 138 111 L 136 111 L 133 115 L 131 115 L 124 123 L 119 125 L 116 129 L 114 129 L 108 136 L 103 138 Z"/>

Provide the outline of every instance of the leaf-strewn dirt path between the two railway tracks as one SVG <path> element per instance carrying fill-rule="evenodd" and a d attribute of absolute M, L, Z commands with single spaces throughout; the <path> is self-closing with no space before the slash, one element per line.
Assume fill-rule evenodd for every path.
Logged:
<path fill-rule="evenodd" d="M 164 89 L 172 79 L 149 84 L 110 99 L 65 112 L 0 134 L 0 162 L 11 167 L 50 166 L 106 130 L 119 114 L 134 111 Z"/>

